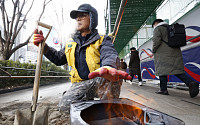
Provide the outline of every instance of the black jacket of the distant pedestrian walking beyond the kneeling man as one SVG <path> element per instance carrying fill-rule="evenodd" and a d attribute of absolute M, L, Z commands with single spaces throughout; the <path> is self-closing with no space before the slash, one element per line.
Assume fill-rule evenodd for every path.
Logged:
<path fill-rule="evenodd" d="M 129 62 L 129 74 L 140 74 L 140 58 L 137 50 L 131 51 L 131 57 Z"/>

